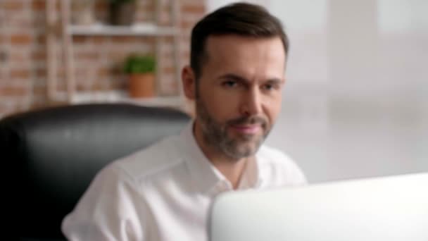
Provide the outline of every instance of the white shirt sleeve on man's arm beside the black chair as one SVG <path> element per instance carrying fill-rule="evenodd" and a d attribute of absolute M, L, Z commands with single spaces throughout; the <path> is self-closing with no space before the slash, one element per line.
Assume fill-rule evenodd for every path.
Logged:
<path fill-rule="evenodd" d="M 96 175 L 61 228 L 71 241 L 147 240 L 148 210 L 130 175 L 110 165 Z"/>

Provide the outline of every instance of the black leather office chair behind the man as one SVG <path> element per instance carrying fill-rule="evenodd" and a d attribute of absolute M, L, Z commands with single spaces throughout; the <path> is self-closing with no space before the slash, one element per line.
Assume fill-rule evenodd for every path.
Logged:
<path fill-rule="evenodd" d="M 131 104 L 61 106 L 0 120 L 3 237 L 65 240 L 61 221 L 96 172 L 187 123 L 180 111 Z"/>

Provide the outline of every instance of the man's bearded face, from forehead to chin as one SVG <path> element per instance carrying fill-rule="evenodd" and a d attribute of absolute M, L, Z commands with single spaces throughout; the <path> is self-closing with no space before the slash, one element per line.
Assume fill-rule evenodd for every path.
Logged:
<path fill-rule="evenodd" d="M 281 39 L 213 36 L 206 54 L 196 85 L 196 129 L 204 144 L 229 159 L 252 156 L 281 108 Z"/>

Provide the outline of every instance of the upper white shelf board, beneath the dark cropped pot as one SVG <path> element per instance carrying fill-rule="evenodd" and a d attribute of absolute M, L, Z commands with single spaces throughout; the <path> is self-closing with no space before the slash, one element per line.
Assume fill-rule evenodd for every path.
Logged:
<path fill-rule="evenodd" d="M 93 25 L 68 25 L 70 35 L 131 35 L 131 36 L 173 36 L 175 27 L 160 27 L 153 23 L 135 23 L 130 26 L 114 26 L 96 23 Z"/>

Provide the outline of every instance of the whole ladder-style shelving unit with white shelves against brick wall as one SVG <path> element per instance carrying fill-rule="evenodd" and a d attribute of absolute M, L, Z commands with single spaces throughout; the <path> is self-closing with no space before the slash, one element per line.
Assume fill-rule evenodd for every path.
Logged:
<path fill-rule="evenodd" d="M 170 4 L 170 23 L 168 27 L 157 25 L 160 16 L 160 1 L 156 2 L 155 19 L 153 23 L 135 23 L 131 26 L 113 26 L 96 23 L 93 25 L 73 25 L 70 23 L 70 0 L 58 0 L 61 8 L 61 24 L 58 24 L 58 16 L 55 8 L 58 4 L 57 0 L 46 1 L 47 13 L 47 76 L 48 76 L 48 95 L 52 101 L 67 101 L 70 104 L 88 103 L 88 102 L 130 102 L 146 106 L 170 106 L 178 109 L 186 109 L 186 101 L 182 94 L 180 82 L 180 6 L 179 1 L 169 0 Z M 108 92 L 82 92 L 77 91 L 75 85 L 75 69 L 73 57 L 73 36 L 149 36 L 156 40 L 159 37 L 172 37 L 172 47 L 174 54 L 175 75 L 179 87 L 179 94 L 175 97 L 153 97 L 145 99 L 131 99 L 127 97 L 127 93 L 123 91 L 108 91 Z M 56 38 L 61 37 L 65 63 L 65 81 L 67 92 L 61 94 L 58 92 L 57 78 L 57 46 Z M 158 61 L 158 66 L 161 66 L 160 57 L 160 41 L 156 42 L 155 55 Z M 160 69 L 160 68 L 158 68 Z M 156 72 L 157 83 L 160 80 L 160 71 Z"/>

